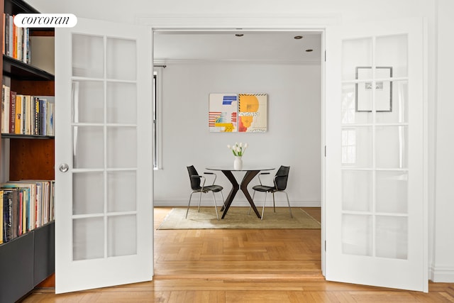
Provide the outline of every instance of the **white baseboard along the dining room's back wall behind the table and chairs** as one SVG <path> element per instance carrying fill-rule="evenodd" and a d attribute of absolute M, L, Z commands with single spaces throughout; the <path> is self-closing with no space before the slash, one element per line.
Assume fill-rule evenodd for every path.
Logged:
<path fill-rule="evenodd" d="M 155 206 L 187 206 L 188 201 L 155 201 L 154 205 Z M 191 201 L 191 206 L 196 206 L 199 202 L 197 199 L 192 199 Z M 255 206 L 257 207 L 262 207 L 263 204 L 262 201 L 255 202 Z M 218 206 L 221 206 L 222 202 L 221 200 L 216 199 L 216 204 Z M 213 201 L 202 201 L 201 206 L 213 206 Z M 238 201 L 233 201 L 231 206 L 249 206 L 248 201 L 246 200 L 238 200 Z M 272 206 L 272 200 L 267 199 L 267 204 L 266 206 Z M 287 200 L 276 200 L 276 207 L 287 207 Z M 321 203 L 320 201 L 290 201 L 290 206 L 292 207 L 320 207 Z"/>

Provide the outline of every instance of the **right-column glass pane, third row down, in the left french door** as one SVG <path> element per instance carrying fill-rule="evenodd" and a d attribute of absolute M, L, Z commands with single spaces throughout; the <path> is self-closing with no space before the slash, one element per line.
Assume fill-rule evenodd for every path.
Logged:
<path fill-rule="evenodd" d="M 137 129 L 135 127 L 107 128 L 107 166 L 109 168 L 137 167 Z"/>

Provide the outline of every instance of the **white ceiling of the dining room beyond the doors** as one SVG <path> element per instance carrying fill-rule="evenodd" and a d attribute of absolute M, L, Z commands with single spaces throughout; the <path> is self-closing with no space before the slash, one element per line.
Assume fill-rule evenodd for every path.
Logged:
<path fill-rule="evenodd" d="M 238 37 L 236 34 L 243 36 Z M 295 36 L 303 38 L 295 39 Z M 312 50 L 312 51 L 306 51 Z M 321 61 L 321 33 L 301 31 L 155 31 L 155 63 Z"/>

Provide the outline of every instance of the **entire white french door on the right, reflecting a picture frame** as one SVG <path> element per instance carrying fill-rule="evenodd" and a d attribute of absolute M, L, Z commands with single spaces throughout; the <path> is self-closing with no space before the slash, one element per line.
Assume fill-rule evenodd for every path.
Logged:
<path fill-rule="evenodd" d="M 326 31 L 326 280 L 428 291 L 423 28 Z"/>

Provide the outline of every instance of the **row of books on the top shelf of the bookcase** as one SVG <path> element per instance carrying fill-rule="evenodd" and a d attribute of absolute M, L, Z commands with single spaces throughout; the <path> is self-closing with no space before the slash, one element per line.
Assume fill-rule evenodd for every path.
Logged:
<path fill-rule="evenodd" d="M 29 64 L 30 58 L 30 31 L 20 28 L 13 22 L 14 15 L 3 14 L 3 53 L 16 60 Z"/>

